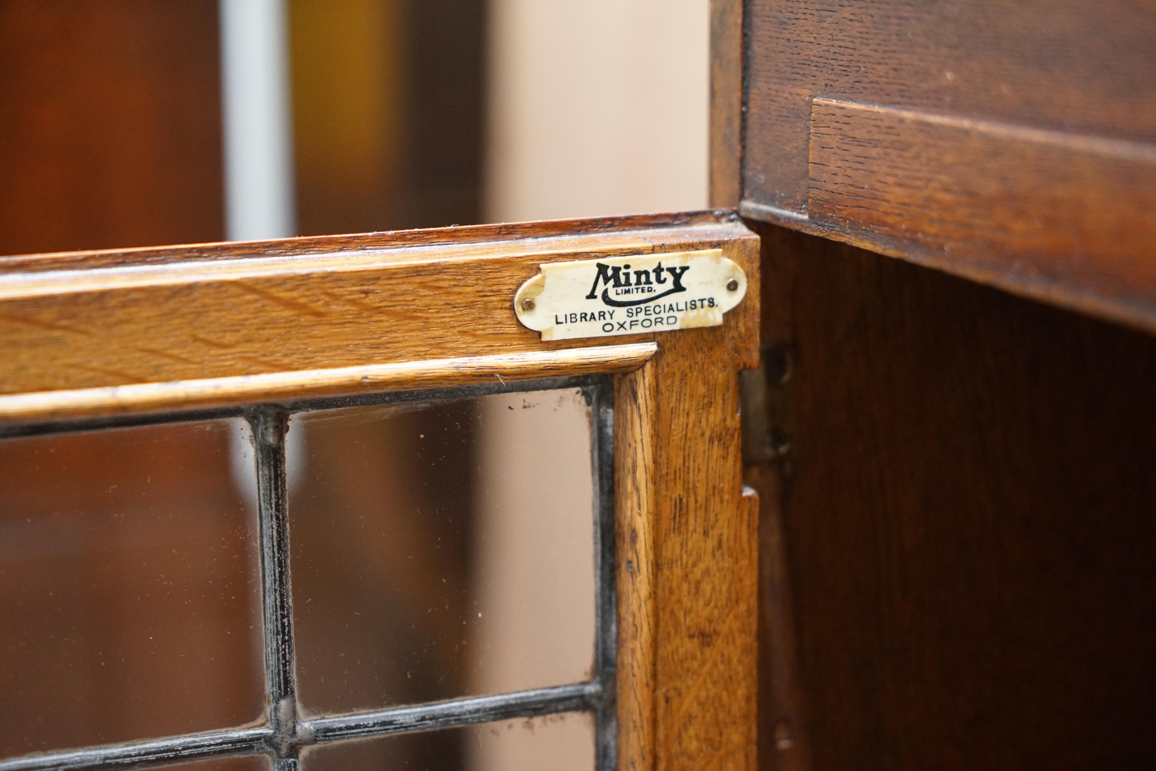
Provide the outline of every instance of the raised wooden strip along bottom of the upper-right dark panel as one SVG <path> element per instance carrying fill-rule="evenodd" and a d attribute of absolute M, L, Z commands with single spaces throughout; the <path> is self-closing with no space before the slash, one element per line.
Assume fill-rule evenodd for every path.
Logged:
<path fill-rule="evenodd" d="M 1156 144 L 815 99 L 809 170 L 815 231 L 1156 331 Z"/>

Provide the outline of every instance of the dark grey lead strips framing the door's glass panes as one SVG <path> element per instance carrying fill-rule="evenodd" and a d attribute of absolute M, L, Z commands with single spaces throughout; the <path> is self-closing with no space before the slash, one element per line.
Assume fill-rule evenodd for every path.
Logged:
<path fill-rule="evenodd" d="M 473 696 L 425 704 L 302 719 L 294 682 L 292 596 L 289 571 L 289 504 L 286 484 L 286 435 L 292 413 L 354 405 L 438 401 L 494 393 L 547 391 L 579 386 L 591 408 L 594 472 L 595 636 L 594 677 L 587 682 L 495 696 Z M 275 771 L 296 771 L 298 756 L 312 744 L 435 731 L 533 718 L 560 712 L 593 712 L 595 768 L 617 768 L 615 659 L 617 603 L 614 588 L 614 387 L 610 376 L 553 378 L 492 386 L 317 399 L 250 409 L 195 412 L 112 421 L 14 427 L 8 436 L 101 430 L 113 427 L 200 421 L 244 415 L 255 447 L 258 519 L 261 542 L 261 605 L 265 628 L 265 724 L 165 739 L 83 749 L 34 753 L 0 761 L 0 771 L 81 771 L 175 765 L 213 757 L 269 755 Z"/>

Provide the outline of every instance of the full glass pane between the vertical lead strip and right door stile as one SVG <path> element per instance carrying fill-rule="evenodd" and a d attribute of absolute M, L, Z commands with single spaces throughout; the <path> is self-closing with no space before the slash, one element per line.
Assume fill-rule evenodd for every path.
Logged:
<path fill-rule="evenodd" d="M 306 711 L 590 676 L 593 482 L 578 390 L 312 413 L 289 436 Z"/>

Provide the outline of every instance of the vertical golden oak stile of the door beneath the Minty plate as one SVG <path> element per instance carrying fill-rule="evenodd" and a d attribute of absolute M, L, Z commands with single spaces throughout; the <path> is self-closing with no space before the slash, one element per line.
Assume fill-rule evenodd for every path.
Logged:
<path fill-rule="evenodd" d="M 757 239 L 731 246 L 757 286 Z M 754 769 L 757 498 L 739 370 L 757 364 L 758 317 L 744 301 L 720 327 L 657 335 L 658 354 L 616 378 L 621 769 Z"/>

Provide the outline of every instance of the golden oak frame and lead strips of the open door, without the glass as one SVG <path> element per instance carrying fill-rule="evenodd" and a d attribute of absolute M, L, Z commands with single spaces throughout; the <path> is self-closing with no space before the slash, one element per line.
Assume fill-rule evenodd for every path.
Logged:
<path fill-rule="evenodd" d="M 732 270 L 721 286 L 741 302 L 661 332 L 551 339 L 519 318 L 536 297 L 519 288 L 541 266 L 601 265 L 606 289 L 617 268 L 665 283 L 681 274 L 662 260 L 687 254 Z M 0 436 L 249 421 L 268 704 L 257 725 L 61 747 L 0 769 L 238 755 L 291 769 L 314 744 L 571 711 L 595 716 L 600 769 L 754 768 L 757 503 L 741 483 L 738 380 L 757 365 L 758 296 L 758 239 L 731 212 L 0 258 Z M 591 677 L 304 716 L 288 416 L 563 386 L 592 415 Z"/>

